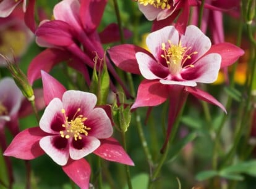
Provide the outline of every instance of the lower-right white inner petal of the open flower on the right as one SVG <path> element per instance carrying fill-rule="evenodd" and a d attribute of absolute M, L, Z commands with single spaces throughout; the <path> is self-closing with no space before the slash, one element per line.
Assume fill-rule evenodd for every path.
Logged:
<path fill-rule="evenodd" d="M 208 54 L 195 62 L 194 67 L 182 71 L 181 76 L 186 80 L 211 83 L 218 78 L 220 65 L 221 56 L 219 54 Z"/>

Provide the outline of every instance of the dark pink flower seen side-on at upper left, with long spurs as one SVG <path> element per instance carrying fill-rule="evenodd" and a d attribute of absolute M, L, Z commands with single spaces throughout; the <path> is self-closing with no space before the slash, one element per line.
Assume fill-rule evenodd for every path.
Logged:
<path fill-rule="evenodd" d="M 49 71 L 61 60 L 73 59 L 74 61 L 69 65 L 76 70 L 86 69 L 83 68 L 85 65 L 91 68 L 95 67 L 95 62 L 93 62 L 95 52 L 100 58 L 104 57 L 101 41 L 113 42 L 119 39 L 116 24 L 109 25 L 101 34 L 96 31 L 106 3 L 106 0 L 64 0 L 56 4 L 53 10 L 55 20 L 43 20 L 35 31 L 38 45 L 51 49 L 46 49 L 30 63 L 28 79 L 31 83 L 40 77 L 41 70 Z M 130 36 L 130 32 L 125 30 L 125 36 Z M 82 49 L 80 46 L 82 46 Z M 45 61 L 47 56 L 51 58 L 49 62 Z M 59 56 L 62 57 L 61 60 Z M 75 66 L 74 64 L 78 65 Z M 106 65 L 109 72 L 128 95 L 129 92 L 126 90 L 126 86 L 124 86 L 108 60 L 106 60 Z M 100 62 L 96 62 L 96 68 L 97 70 L 102 68 Z M 85 78 L 88 78 L 88 72 L 85 70 L 83 73 Z"/>

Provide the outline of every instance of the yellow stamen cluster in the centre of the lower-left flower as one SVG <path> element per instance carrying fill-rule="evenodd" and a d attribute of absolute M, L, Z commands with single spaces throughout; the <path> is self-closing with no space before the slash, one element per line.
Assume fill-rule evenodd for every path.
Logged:
<path fill-rule="evenodd" d="M 90 130 L 91 128 L 84 125 L 84 121 L 87 120 L 87 118 L 83 117 L 83 115 L 77 115 L 79 111 L 80 108 L 77 109 L 77 112 L 69 121 L 68 117 L 65 114 L 66 111 L 64 109 L 61 110 L 61 113 L 65 117 L 65 124 L 62 124 L 62 127 L 64 127 L 65 130 L 59 132 L 62 138 L 69 139 L 70 137 L 73 137 L 75 140 L 77 140 L 82 139 L 82 134 L 84 134 L 85 136 L 88 135 L 88 130 Z"/>

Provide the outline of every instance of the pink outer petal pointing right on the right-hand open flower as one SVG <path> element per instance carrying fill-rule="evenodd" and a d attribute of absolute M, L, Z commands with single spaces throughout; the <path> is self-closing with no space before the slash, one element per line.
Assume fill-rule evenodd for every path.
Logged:
<path fill-rule="evenodd" d="M 236 62 L 236 60 L 244 54 L 244 50 L 229 42 L 222 42 L 211 46 L 207 54 L 210 53 L 218 53 L 221 55 L 221 68 L 223 68 Z"/>

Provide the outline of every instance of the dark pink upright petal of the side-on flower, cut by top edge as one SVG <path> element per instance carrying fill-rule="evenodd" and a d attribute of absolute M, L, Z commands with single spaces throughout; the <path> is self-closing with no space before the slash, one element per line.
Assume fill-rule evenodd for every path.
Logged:
<path fill-rule="evenodd" d="M 80 19 L 87 33 L 95 31 L 100 24 L 107 0 L 80 0 Z M 96 11 L 95 11 L 96 10 Z"/>

